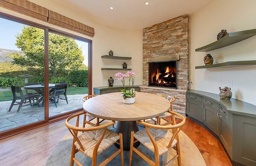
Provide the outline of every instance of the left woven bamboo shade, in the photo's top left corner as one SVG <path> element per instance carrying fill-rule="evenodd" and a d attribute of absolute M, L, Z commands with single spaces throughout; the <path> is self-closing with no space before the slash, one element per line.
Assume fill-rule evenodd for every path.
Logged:
<path fill-rule="evenodd" d="M 48 9 L 28 0 L 0 0 L 0 7 L 47 22 Z"/>

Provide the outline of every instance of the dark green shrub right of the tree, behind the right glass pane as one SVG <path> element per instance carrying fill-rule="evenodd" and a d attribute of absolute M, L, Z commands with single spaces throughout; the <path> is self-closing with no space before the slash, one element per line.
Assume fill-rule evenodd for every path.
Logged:
<path fill-rule="evenodd" d="M 68 78 L 76 86 L 88 87 L 88 70 L 72 70 Z"/>

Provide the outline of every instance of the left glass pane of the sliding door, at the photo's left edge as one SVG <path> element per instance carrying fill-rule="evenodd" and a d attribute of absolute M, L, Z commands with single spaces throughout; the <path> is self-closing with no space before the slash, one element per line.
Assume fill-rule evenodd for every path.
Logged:
<path fill-rule="evenodd" d="M 0 18 L 0 132 L 45 120 L 44 34 Z"/>

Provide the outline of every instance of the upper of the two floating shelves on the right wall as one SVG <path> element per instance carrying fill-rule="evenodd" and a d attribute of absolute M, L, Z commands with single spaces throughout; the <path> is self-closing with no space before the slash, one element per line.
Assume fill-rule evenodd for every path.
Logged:
<path fill-rule="evenodd" d="M 208 52 L 208 51 L 216 50 L 219 48 L 230 46 L 230 45 L 240 42 L 242 40 L 248 39 L 254 35 L 256 35 L 256 29 L 243 30 L 243 31 L 239 31 L 239 32 L 231 32 L 231 33 L 226 34 L 226 36 L 224 36 L 223 38 L 221 38 L 211 44 L 208 44 L 201 48 L 197 48 L 196 51 Z"/>

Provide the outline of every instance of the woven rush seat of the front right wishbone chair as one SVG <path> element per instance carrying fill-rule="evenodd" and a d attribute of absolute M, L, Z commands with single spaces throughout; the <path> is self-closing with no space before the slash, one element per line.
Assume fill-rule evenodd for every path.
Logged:
<path fill-rule="evenodd" d="M 163 155 L 164 153 L 168 152 L 170 148 L 173 148 L 177 140 L 174 139 L 172 142 L 170 148 L 166 148 L 170 142 L 170 139 L 172 138 L 172 133 L 168 130 L 161 130 L 156 128 L 149 128 L 148 129 L 150 133 L 152 134 L 154 140 L 156 140 L 156 144 L 158 146 L 159 155 Z M 145 128 L 142 130 L 139 130 L 134 134 L 134 138 L 136 138 L 140 143 L 142 143 L 146 148 L 154 152 L 154 145 L 151 142 L 150 138 L 148 137 L 148 133 Z"/>

